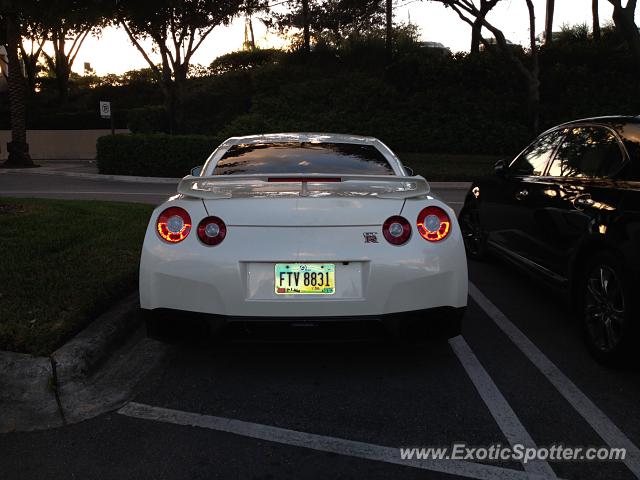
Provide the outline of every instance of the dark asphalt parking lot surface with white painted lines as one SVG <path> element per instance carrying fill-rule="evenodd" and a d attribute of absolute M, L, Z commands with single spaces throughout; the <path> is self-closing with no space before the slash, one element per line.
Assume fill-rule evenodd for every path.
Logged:
<path fill-rule="evenodd" d="M 7 175 L 0 192 L 15 195 Z M 26 181 L 20 191 L 69 188 Z M 120 198 L 172 190 L 94 186 Z M 458 207 L 463 194 L 443 197 Z M 0 435 L 0 478 L 640 478 L 640 371 L 598 365 L 562 302 L 498 260 L 470 262 L 469 275 L 463 335 L 450 342 L 339 341 L 339 329 L 314 342 L 305 328 L 183 343 L 122 409 Z M 400 457 L 454 443 L 626 447 L 627 459 Z"/>

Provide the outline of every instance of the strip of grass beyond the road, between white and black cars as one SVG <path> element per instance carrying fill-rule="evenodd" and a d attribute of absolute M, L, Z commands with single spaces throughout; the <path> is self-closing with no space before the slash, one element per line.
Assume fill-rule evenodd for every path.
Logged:
<path fill-rule="evenodd" d="M 504 155 L 403 153 L 400 160 L 432 182 L 471 182 L 493 175 L 493 164 Z"/>

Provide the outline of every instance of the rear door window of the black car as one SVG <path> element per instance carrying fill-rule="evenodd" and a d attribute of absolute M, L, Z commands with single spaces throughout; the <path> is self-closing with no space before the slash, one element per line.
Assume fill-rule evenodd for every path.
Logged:
<path fill-rule="evenodd" d="M 553 177 L 597 178 L 615 173 L 624 157 L 618 139 L 604 127 L 574 127 L 551 164 Z"/>

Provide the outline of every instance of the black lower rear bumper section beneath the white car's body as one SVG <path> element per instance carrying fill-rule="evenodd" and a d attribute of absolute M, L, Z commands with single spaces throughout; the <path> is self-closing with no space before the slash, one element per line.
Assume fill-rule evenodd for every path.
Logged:
<path fill-rule="evenodd" d="M 460 333 L 462 318 L 466 307 L 436 307 L 402 313 L 383 315 L 355 315 L 328 317 L 244 317 L 195 313 L 169 308 L 154 310 L 141 309 L 147 323 L 158 322 L 172 329 L 197 329 L 198 331 L 216 331 L 231 323 L 288 323 L 288 324 L 339 324 L 339 323 L 380 323 L 392 332 L 401 331 L 405 327 L 422 327 L 433 331 L 434 335 L 452 337 Z"/>

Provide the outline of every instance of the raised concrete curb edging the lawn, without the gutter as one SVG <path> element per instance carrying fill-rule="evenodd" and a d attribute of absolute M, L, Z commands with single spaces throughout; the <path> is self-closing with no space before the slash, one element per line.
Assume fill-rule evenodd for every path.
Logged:
<path fill-rule="evenodd" d="M 138 294 L 100 315 L 49 357 L 0 351 L 0 432 L 65 425 L 60 391 L 89 378 L 141 324 Z"/>

